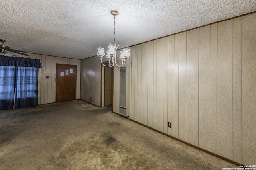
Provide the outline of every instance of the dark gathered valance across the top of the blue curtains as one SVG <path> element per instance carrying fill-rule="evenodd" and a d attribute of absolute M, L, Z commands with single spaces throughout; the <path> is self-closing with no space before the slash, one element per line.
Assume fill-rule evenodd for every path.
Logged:
<path fill-rule="evenodd" d="M 0 55 L 0 66 L 36 67 L 41 68 L 40 59 L 8 57 Z"/>

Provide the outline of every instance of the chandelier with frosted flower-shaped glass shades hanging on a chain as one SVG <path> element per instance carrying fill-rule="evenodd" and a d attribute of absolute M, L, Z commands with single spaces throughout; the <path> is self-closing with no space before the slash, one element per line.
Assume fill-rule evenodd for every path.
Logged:
<path fill-rule="evenodd" d="M 105 55 L 104 48 L 99 47 L 97 55 L 100 57 L 100 62 L 102 65 L 112 67 L 112 66 L 114 66 L 114 64 L 116 64 L 116 50 L 119 47 L 119 45 L 116 47 L 116 43 L 115 43 L 115 33 L 116 33 L 115 32 L 115 16 L 118 15 L 118 11 L 112 10 L 112 11 L 110 11 L 110 13 L 114 16 L 114 44 L 112 45 L 110 43 L 110 45 L 108 45 L 108 51 L 107 51 L 107 55 L 106 55 L 106 58 L 108 59 L 108 65 L 105 65 L 102 63 L 102 58 Z M 121 64 L 121 66 L 118 66 L 116 64 L 116 66 L 118 66 L 118 67 L 124 66 L 127 57 L 130 56 L 129 51 L 130 51 L 130 49 L 127 49 L 127 48 L 124 48 L 123 51 L 120 51 L 120 53 L 121 53 L 120 59 L 122 60 L 122 64 Z"/>

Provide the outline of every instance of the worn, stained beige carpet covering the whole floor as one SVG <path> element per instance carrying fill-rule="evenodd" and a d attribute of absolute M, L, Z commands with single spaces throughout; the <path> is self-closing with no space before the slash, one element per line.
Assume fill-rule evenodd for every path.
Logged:
<path fill-rule="evenodd" d="M 235 167 L 82 100 L 0 111 L 1 170 Z"/>

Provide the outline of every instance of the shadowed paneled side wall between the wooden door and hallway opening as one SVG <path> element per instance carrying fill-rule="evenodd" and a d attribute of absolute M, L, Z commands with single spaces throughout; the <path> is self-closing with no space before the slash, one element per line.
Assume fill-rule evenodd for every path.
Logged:
<path fill-rule="evenodd" d="M 99 107 L 101 107 L 101 71 L 98 56 L 81 60 L 81 99 Z"/>

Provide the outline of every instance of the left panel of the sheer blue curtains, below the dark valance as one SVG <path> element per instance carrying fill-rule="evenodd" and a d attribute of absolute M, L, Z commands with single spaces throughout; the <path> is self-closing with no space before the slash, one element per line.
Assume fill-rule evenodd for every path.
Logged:
<path fill-rule="evenodd" d="M 15 67 L 0 66 L 0 110 L 13 108 L 14 84 Z"/>

